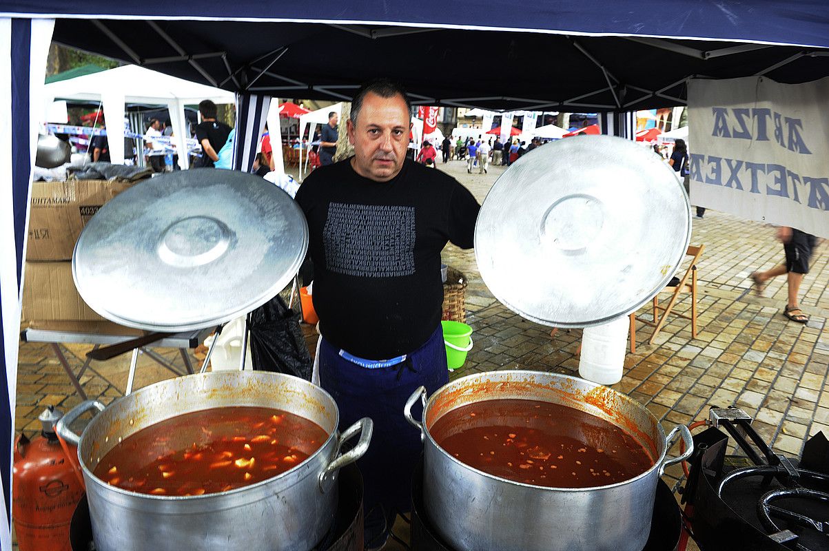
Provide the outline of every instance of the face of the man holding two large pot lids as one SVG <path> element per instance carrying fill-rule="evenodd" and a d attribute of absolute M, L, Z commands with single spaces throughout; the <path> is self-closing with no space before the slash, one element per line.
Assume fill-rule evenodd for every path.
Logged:
<path fill-rule="evenodd" d="M 347 127 L 348 141 L 354 146 L 351 166 L 357 174 L 375 181 L 397 176 L 405 161 L 411 127 L 402 96 L 366 94 L 356 125 L 349 120 Z"/>

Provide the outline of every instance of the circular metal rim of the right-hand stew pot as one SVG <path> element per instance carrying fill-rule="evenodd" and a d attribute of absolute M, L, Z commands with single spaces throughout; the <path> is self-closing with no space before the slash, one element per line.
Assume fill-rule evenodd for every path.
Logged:
<path fill-rule="evenodd" d="M 657 417 L 653 413 L 651 413 L 651 411 L 649 409 L 644 407 L 642 404 L 639 404 L 636 400 L 634 400 L 633 398 L 631 398 L 627 394 L 623 394 L 621 392 L 618 392 L 618 390 L 613 390 L 610 387 L 606 387 L 602 384 L 591 383 L 590 381 L 587 381 L 585 379 L 581 379 L 579 377 L 574 377 L 573 375 L 562 375 L 562 374 L 558 374 L 558 373 L 548 373 L 546 371 L 532 371 L 532 370 L 509 370 L 509 371 L 496 371 L 496 372 L 492 372 L 492 373 L 502 373 L 502 374 L 509 374 L 509 375 L 512 375 L 512 374 L 517 374 L 517 375 L 555 375 L 555 377 L 561 378 L 561 379 L 574 379 L 574 380 L 578 380 L 581 383 L 592 384 L 592 385 L 594 385 L 594 388 L 595 387 L 604 387 L 605 389 L 611 390 L 611 391 L 613 391 L 614 394 L 618 394 L 618 395 L 622 396 L 624 399 L 628 399 L 633 404 L 638 405 L 639 408 L 642 408 L 643 410 L 645 410 L 645 412 L 647 412 L 647 415 L 650 418 L 652 418 L 654 423 L 656 423 L 656 427 L 657 427 L 657 431 L 658 431 L 657 436 L 660 438 L 661 442 L 664 442 L 663 446 L 662 446 L 662 453 L 660 454 L 659 458 L 653 463 L 653 465 L 650 466 L 650 468 L 647 469 L 647 471 L 643 471 L 642 473 L 638 474 L 637 476 L 633 476 L 632 478 L 628 478 L 627 480 L 624 480 L 624 481 L 621 481 L 621 482 L 615 482 L 613 484 L 607 484 L 607 485 L 604 485 L 604 486 L 588 486 L 586 488 L 563 488 L 563 487 L 560 487 L 560 486 L 538 486 L 536 484 L 527 484 L 526 482 L 511 481 L 508 478 L 503 478 L 502 476 L 492 475 L 488 472 L 484 472 L 484 471 L 481 471 L 479 469 L 476 469 L 475 467 L 470 466 L 467 463 L 464 463 L 464 462 L 460 461 L 457 457 L 454 457 L 451 453 L 444 450 L 444 448 L 441 447 L 438 444 L 438 442 L 435 442 L 434 438 L 432 437 L 432 433 L 429 430 L 429 427 L 426 426 L 426 412 L 429 410 L 429 408 L 431 408 L 434 405 L 434 398 L 436 396 L 438 396 L 440 393 L 442 393 L 444 391 L 444 389 L 446 389 L 446 387 L 448 387 L 450 384 L 458 384 L 460 381 L 463 381 L 463 379 L 469 379 L 469 378 L 472 378 L 472 377 L 479 377 L 481 375 L 487 375 L 487 374 L 478 373 L 478 374 L 474 374 L 474 375 L 466 375 L 465 377 L 461 377 L 460 379 L 454 379 L 453 381 L 449 381 L 447 384 L 444 384 L 444 386 L 440 387 L 439 389 L 434 391 L 434 393 L 431 396 L 429 396 L 429 399 L 426 401 L 426 407 L 423 409 L 424 434 L 426 435 L 426 437 L 429 438 L 429 442 L 432 442 L 435 449 L 437 449 L 445 457 L 448 457 L 448 459 L 450 459 L 451 461 L 457 463 L 458 465 L 461 465 L 461 466 L 467 468 L 468 470 L 475 472 L 476 474 L 478 474 L 480 476 L 485 476 L 489 479 L 492 479 L 493 481 L 508 483 L 508 484 L 513 485 L 513 486 L 523 486 L 523 487 L 526 487 L 526 488 L 531 488 L 533 490 L 542 490 L 542 491 L 578 493 L 578 492 L 584 492 L 584 491 L 608 490 L 610 488 L 616 488 L 618 486 L 626 486 L 626 485 L 631 484 L 635 481 L 638 481 L 642 478 L 645 478 L 646 476 L 649 476 L 654 469 L 658 469 L 662 465 L 662 463 L 665 462 L 665 457 L 667 457 L 667 437 L 666 437 L 665 429 L 662 428 L 662 423 L 659 423 L 659 419 L 657 419 Z M 605 419 L 605 421 L 608 421 L 608 423 L 612 423 L 608 419 Z"/>

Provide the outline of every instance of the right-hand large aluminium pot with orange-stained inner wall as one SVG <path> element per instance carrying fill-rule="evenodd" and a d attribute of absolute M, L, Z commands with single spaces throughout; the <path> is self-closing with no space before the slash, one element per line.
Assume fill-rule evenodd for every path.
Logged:
<path fill-rule="evenodd" d="M 534 399 L 604 418 L 642 444 L 654 465 L 628 481 L 594 488 L 550 488 L 509 481 L 458 461 L 434 441 L 430 428 L 445 413 L 487 399 Z M 423 420 L 411 407 L 421 400 Z M 424 508 L 458 551 L 641 551 L 650 531 L 657 482 L 665 467 L 691 455 L 685 426 L 668 437 L 652 413 L 613 389 L 567 375 L 498 371 L 456 379 L 426 401 L 423 387 L 405 417 L 424 438 Z M 668 459 L 677 433 L 686 452 Z"/>

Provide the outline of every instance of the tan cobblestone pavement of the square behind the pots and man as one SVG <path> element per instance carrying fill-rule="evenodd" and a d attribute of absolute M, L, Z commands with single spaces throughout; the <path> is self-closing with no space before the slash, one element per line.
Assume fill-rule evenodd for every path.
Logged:
<path fill-rule="evenodd" d="M 503 172 L 502 167 L 490 167 L 488 174 L 468 174 L 462 162 L 438 167 L 468 186 L 478 201 Z M 821 430 L 829 435 L 829 246 L 826 240 L 819 242 L 812 270 L 803 279 L 801 305 L 811 316 L 804 326 L 781 313 L 784 277 L 770 281 L 764 297 L 750 289 L 749 273 L 783 260 L 772 227 L 709 210 L 704 219 L 694 219 L 691 244 L 705 244 L 698 264 L 697 338 L 691 338 L 690 321 L 671 317 L 651 346 L 647 339 L 652 330 L 640 323 L 637 352 L 627 355 L 624 377 L 614 388 L 646 405 L 667 428 L 705 418 L 710 405 L 736 404 L 754 416 L 754 427 L 776 451 L 797 456 L 811 435 Z M 577 373 L 580 331 L 559 331 L 551 338 L 549 327 L 507 310 L 482 282 L 473 251 L 450 244 L 444 262 L 468 278 L 468 323 L 475 336 L 466 365 L 453 377 L 504 369 Z M 690 309 L 685 296 L 677 312 Z M 88 349 L 66 348 L 75 370 Z M 177 355 L 176 350 L 161 351 L 170 360 Z M 127 370 L 128 355 L 95 362 L 81 383 L 90 397 L 109 402 L 123 393 Z M 136 387 L 170 376 L 143 358 Z M 79 402 L 45 345 L 20 346 L 17 381 L 18 431 L 36 430 L 36 417 L 48 404 L 67 409 Z M 675 485 L 680 476 L 679 466 L 669 467 L 666 481 Z"/>

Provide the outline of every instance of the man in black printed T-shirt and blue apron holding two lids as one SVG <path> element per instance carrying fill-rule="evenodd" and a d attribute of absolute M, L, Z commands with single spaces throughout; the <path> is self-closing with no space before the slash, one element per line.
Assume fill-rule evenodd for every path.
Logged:
<path fill-rule="evenodd" d="M 420 385 L 432 393 L 448 382 L 440 253 L 448 241 L 473 247 L 480 210 L 453 177 L 406 158 L 410 121 L 400 85 L 361 86 L 347 121 L 354 156 L 312 172 L 296 196 L 314 265 L 320 384 L 341 430 L 375 423 L 358 462 L 366 549 L 379 549 L 395 512 L 410 508 L 422 445 L 401 412 Z"/>

